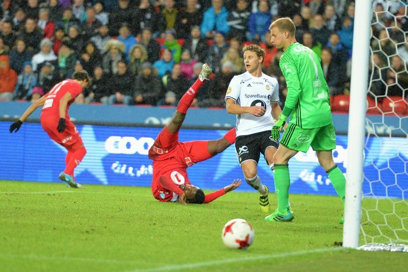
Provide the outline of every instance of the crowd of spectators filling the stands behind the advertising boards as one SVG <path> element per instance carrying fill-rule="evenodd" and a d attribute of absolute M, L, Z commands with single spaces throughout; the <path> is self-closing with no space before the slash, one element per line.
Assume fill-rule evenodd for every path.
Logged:
<path fill-rule="evenodd" d="M 406 3 L 372 5 L 370 93 L 406 97 Z M 293 19 L 296 40 L 321 58 L 330 95 L 349 94 L 350 0 L 3 0 L 0 100 L 35 101 L 85 69 L 92 85 L 76 103 L 174 106 L 207 62 L 212 80 L 193 106 L 224 107 L 228 84 L 245 71 L 242 46 L 253 42 L 265 49 L 263 71 L 277 78 L 284 103 L 282 52 L 268 30 L 284 16 Z"/>

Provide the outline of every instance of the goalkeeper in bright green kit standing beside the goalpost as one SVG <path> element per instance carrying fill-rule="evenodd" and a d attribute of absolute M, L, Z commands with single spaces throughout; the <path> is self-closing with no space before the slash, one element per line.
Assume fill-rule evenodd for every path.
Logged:
<path fill-rule="evenodd" d="M 274 156 L 273 176 L 278 207 L 265 220 L 291 221 L 294 217 L 287 209 L 290 185 L 288 163 L 296 153 L 307 152 L 312 146 L 343 203 L 346 180 L 333 160 L 336 133 L 331 120 L 328 86 L 319 57 L 310 48 L 296 42 L 295 24 L 290 18 L 273 21 L 269 30 L 271 43 L 284 51 L 279 67 L 288 88 L 285 107 L 271 131 L 272 138 L 279 138 L 288 116 L 290 121 Z M 340 219 L 340 224 L 343 222 L 344 217 Z"/>

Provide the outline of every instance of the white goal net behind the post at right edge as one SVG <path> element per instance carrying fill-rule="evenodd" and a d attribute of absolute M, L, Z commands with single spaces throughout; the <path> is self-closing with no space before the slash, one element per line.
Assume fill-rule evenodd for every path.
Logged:
<path fill-rule="evenodd" d="M 408 252 L 408 7 L 372 10 L 360 244 Z"/>

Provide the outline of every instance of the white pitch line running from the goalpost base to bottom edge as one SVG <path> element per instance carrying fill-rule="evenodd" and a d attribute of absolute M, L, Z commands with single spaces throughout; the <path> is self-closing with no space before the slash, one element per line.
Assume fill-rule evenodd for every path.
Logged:
<path fill-rule="evenodd" d="M 133 271 L 182 270 L 182 269 L 191 269 L 191 268 L 212 266 L 212 265 L 225 264 L 225 263 L 237 263 L 237 262 L 245 262 L 245 261 L 257 261 L 257 260 L 265 260 L 265 259 L 285 258 L 285 257 L 292 257 L 292 256 L 298 256 L 298 255 L 304 255 L 304 254 L 324 253 L 324 252 L 340 251 L 340 250 L 344 250 L 344 249 L 343 248 L 329 248 L 329 249 L 316 249 L 316 250 L 302 250 L 302 251 L 296 251 L 296 252 L 259 255 L 259 256 L 253 256 L 253 257 L 239 257 L 239 258 L 231 258 L 231 259 L 209 261 L 209 262 L 174 264 L 174 265 L 160 266 L 156 268 L 136 269 L 136 270 L 130 270 L 130 271 L 133 272 Z"/>

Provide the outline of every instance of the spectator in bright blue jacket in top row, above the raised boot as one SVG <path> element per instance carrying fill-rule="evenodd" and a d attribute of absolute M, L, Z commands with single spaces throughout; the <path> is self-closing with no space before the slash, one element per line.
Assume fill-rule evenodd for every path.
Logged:
<path fill-rule="evenodd" d="M 216 32 L 226 35 L 230 31 L 227 24 L 228 11 L 222 6 L 222 0 L 212 0 L 212 7 L 204 12 L 201 23 L 201 35 L 214 38 Z"/>

